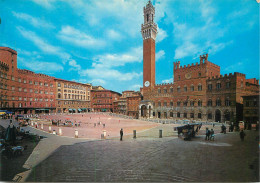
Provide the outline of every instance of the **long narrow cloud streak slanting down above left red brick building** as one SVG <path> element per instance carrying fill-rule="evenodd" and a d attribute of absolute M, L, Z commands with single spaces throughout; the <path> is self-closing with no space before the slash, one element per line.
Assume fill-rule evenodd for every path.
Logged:
<path fill-rule="evenodd" d="M 63 62 L 66 62 L 70 58 L 70 55 L 68 53 L 63 52 L 60 47 L 49 44 L 43 38 L 37 36 L 34 32 L 28 31 L 23 27 L 17 27 L 17 29 L 25 39 L 28 39 L 31 42 L 33 42 L 34 45 L 44 53 L 57 55 L 61 59 L 63 59 Z"/>

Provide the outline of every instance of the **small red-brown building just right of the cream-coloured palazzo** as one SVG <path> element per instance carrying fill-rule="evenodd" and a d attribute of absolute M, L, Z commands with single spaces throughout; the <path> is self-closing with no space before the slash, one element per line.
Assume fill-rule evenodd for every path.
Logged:
<path fill-rule="evenodd" d="M 114 102 L 120 97 L 120 93 L 111 90 L 91 90 L 91 108 L 94 112 L 114 112 Z"/>

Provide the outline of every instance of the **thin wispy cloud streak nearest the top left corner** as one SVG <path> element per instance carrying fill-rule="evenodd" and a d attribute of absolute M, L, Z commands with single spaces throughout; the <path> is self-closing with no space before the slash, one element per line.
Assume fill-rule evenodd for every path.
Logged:
<path fill-rule="evenodd" d="M 26 13 L 17 13 L 17 12 L 14 12 L 14 11 L 12 13 L 16 18 L 25 20 L 26 22 L 30 23 L 34 27 L 37 27 L 37 28 L 55 28 L 54 25 L 46 22 L 44 19 L 35 18 L 35 17 L 32 17 L 31 15 L 28 15 Z"/>

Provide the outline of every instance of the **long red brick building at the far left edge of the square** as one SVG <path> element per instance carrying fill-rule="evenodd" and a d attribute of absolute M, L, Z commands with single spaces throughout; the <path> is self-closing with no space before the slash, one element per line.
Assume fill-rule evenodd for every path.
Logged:
<path fill-rule="evenodd" d="M 19 114 L 55 111 L 54 77 L 17 68 L 17 52 L 0 47 L 1 109 Z"/>

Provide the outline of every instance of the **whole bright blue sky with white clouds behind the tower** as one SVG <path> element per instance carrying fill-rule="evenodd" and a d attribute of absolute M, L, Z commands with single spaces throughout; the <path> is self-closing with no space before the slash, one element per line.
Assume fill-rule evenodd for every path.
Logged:
<path fill-rule="evenodd" d="M 143 7 L 148 0 L 0 0 L 0 45 L 18 67 L 122 92 L 142 86 Z M 173 62 L 209 61 L 221 74 L 259 79 L 256 0 L 154 0 L 159 30 L 156 83 Z"/>

